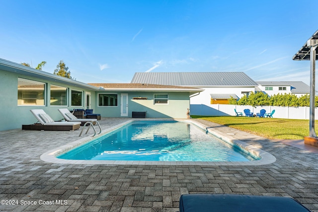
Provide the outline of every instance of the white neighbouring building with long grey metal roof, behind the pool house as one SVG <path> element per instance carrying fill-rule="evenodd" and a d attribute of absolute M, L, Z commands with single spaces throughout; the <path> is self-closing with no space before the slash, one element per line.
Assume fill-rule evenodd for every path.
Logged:
<path fill-rule="evenodd" d="M 235 99 L 255 92 L 258 84 L 244 72 L 137 72 L 131 83 L 191 86 L 204 89 L 190 99 L 191 114 L 196 114 L 196 105 L 228 104 Z M 200 109 L 201 110 L 201 109 Z"/>

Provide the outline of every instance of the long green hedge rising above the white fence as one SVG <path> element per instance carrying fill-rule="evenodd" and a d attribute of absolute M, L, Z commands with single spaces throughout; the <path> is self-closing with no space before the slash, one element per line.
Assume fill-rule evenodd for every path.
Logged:
<path fill-rule="evenodd" d="M 248 96 L 244 95 L 238 101 L 231 96 L 229 103 L 233 105 L 251 106 L 309 107 L 310 96 L 307 94 L 297 97 L 295 94 L 290 93 L 268 96 L 263 92 L 251 92 Z M 315 96 L 315 107 L 318 107 L 318 96 Z"/>

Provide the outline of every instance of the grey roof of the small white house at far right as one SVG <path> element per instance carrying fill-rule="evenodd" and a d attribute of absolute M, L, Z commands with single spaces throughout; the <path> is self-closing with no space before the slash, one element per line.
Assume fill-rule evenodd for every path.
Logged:
<path fill-rule="evenodd" d="M 302 81 L 256 81 L 265 86 L 291 86 L 292 93 L 310 93 L 310 86 Z"/>

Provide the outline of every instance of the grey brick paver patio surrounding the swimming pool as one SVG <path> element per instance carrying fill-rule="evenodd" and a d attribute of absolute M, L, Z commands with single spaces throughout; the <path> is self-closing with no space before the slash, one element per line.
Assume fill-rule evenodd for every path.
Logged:
<path fill-rule="evenodd" d="M 100 123 L 106 129 L 127 120 L 102 118 Z M 2 131 L 0 199 L 15 205 L 1 201 L 0 211 L 176 212 L 181 194 L 226 193 L 292 197 L 318 212 L 317 153 L 199 122 L 260 147 L 276 162 L 258 166 L 56 164 L 42 161 L 40 155 L 78 140 L 79 130 Z"/>

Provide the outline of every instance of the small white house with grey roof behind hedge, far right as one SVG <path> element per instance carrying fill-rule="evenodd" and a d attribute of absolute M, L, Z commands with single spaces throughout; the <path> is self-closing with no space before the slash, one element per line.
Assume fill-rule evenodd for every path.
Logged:
<path fill-rule="evenodd" d="M 291 93 L 300 97 L 310 94 L 310 86 L 302 81 L 256 81 L 258 88 L 256 91 L 263 91 L 269 96 L 274 94 Z"/>

